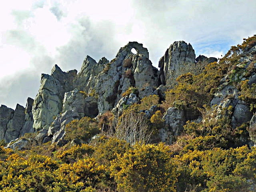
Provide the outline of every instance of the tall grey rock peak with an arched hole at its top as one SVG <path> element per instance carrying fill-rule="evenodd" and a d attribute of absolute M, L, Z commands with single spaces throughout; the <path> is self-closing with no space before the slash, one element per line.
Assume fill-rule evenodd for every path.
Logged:
<path fill-rule="evenodd" d="M 136 48 L 136 55 L 132 54 L 132 48 Z M 129 42 L 114 60 L 104 65 L 96 78 L 94 88 L 99 96 L 99 113 L 114 108 L 130 86 L 136 86 L 139 92 L 146 86 L 157 87 L 157 72 L 148 59 L 146 48 L 137 42 Z"/>

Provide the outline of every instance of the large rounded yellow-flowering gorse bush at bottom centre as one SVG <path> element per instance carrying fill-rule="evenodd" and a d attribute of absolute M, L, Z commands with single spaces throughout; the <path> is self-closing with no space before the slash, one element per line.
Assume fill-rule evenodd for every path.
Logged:
<path fill-rule="evenodd" d="M 135 144 L 123 155 L 111 161 L 111 176 L 120 192 L 175 191 L 175 165 L 163 143 Z"/>

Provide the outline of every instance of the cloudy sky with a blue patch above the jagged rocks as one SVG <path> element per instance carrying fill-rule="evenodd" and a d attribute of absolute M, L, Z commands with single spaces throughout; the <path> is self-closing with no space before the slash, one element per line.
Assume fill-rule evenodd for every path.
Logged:
<path fill-rule="evenodd" d="M 129 41 L 154 66 L 174 42 L 221 58 L 256 34 L 255 0 L 9 0 L 0 7 L 0 105 L 35 98 L 54 64 L 78 72 L 86 55 L 115 58 Z"/>

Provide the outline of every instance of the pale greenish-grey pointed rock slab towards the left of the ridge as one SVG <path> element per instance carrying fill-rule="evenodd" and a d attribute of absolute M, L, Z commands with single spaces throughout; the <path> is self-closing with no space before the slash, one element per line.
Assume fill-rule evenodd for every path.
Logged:
<path fill-rule="evenodd" d="M 62 72 L 57 65 L 52 68 L 51 75 L 42 74 L 41 86 L 32 107 L 34 129 L 48 129 L 53 117 L 62 111 L 62 100 L 65 92 L 73 88 L 74 74 L 74 71 Z"/>

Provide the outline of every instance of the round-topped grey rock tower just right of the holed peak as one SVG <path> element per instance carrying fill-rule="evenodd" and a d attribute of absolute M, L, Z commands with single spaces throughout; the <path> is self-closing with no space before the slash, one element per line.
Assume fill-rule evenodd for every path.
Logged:
<path fill-rule="evenodd" d="M 184 63 L 194 63 L 195 58 L 194 49 L 190 44 L 186 44 L 184 41 L 174 42 L 159 60 L 158 67 L 160 67 L 160 71 L 158 78 L 161 84 L 169 85 L 170 78 L 180 73 L 180 66 Z"/>

